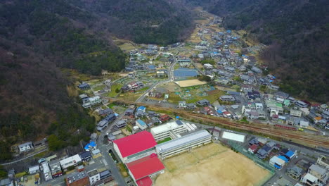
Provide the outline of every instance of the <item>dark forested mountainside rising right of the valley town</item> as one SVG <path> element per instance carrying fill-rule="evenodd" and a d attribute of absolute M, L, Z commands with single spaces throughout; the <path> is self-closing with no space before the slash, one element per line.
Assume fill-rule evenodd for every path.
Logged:
<path fill-rule="evenodd" d="M 227 29 L 244 29 L 269 45 L 262 58 L 280 87 L 315 101 L 329 99 L 329 2 L 325 0 L 191 0 L 224 16 Z"/>

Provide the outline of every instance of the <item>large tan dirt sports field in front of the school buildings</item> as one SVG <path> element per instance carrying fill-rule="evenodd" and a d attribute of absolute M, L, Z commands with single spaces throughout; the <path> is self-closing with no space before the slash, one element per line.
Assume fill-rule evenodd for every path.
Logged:
<path fill-rule="evenodd" d="M 165 172 L 155 180 L 162 185 L 262 185 L 271 173 L 242 154 L 220 144 L 208 144 L 169 159 Z"/>

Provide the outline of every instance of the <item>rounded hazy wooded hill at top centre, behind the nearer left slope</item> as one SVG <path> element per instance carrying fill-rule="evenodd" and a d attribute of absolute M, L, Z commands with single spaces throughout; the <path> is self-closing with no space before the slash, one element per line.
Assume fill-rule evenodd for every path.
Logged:
<path fill-rule="evenodd" d="M 137 43 L 172 44 L 193 30 L 192 13 L 180 1 L 71 1 L 101 16 L 110 32 Z"/>

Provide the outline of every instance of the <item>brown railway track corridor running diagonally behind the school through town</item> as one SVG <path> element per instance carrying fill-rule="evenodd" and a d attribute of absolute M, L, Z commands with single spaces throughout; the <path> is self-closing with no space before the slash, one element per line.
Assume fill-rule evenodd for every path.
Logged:
<path fill-rule="evenodd" d="M 202 123 L 211 123 L 213 125 L 224 125 L 230 128 L 237 128 L 240 130 L 247 130 L 251 132 L 258 132 L 263 135 L 269 135 L 273 137 L 279 137 L 286 140 L 295 140 L 300 144 L 308 144 L 311 147 L 325 147 L 329 148 L 329 138 L 324 136 L 312 135 L 305 132 L 298 132 L 292 130 L 284 130 L 280 128 L 274 128 L 272 125 L 265 125 L 261 123 L 238 123 L 226 118 L 217 118 L 214 116 L 206 116 L 198 113 L 191 113 L 189 111 L 181 109 L 170 109 L 161 106 L 154 106 L 151 104 L 135 103 L 134 101 L 126 101 L 122 99 L 110 99 L 110 102 L 118 102 L 122 104 L 134 104 L 136 106 L 147 106 L 148 109 L 155 111 L 165 111 L 183 118 L 200 120 Z"/>

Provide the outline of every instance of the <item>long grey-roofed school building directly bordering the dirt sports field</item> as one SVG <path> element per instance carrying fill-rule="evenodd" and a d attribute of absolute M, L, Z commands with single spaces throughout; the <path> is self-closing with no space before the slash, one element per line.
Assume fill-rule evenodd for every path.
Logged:
<path fill-rule="evenodd" d="M 157 155 L 161 159 L 166 159 L 170 156 L 180 154 L 183 151 L 189 151 L 195 147 L 200 147 L 203 144 L 208 144 L 211 142 L 211 138 L 212 135 L 210 135 L 207 130 L 199 130 L 175 140 L 157 144 L 155 149 Z"/>

